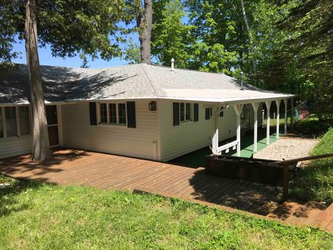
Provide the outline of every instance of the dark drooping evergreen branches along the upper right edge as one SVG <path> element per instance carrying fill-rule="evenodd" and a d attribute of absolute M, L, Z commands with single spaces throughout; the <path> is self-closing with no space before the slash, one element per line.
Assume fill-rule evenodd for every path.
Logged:
<path fill-rule="evenodd" d="M 333 2 L 300 1 L 278 28 L 289 34 L 276 55 L 281 62 L 280 72 L 295 70 L 302 97 L 314 102 L 321 120 L 332 123 Z"/>

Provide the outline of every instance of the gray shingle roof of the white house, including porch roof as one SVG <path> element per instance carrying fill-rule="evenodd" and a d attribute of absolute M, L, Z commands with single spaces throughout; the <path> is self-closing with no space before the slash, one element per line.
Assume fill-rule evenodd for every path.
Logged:
<path fill-rule="evenodd" d="M 225 74 L 197 72 L 137 64 L 102 69 L 42 66 L 46 102 L 102 99 L 193 99 L 287 97 L 245 85 Z M 26 103 L 30 99 L 26 65 L 0 77 L 0 103 Z"/>

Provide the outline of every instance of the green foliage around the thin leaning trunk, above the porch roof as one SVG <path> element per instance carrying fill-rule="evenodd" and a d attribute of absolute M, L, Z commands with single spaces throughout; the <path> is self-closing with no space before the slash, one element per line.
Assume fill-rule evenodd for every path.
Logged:
<path fill-rule="evenodd" d="M 237 60 L 228 63 L 235 76 L 243 71 L 248 80 L 263 86 L 263 67 L 273 60 L 283 36 L 275 28 L 275 22 L 285 15 L 288 6 L 254 0 L 244 1 L 243 8 L 241 3 L 240 0 L 190 0 L 187 3 L 190 22 L 197 27 L 198 38 L 208 46 L 221 44 L 225 51 L 237 55 Z"/>

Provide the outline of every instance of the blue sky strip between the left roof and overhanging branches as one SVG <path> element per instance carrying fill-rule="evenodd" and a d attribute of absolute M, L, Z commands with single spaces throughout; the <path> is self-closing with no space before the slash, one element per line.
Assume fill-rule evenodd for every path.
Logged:
<path fill-rule="evenodd" d="M 134 39 L 134 38 L 133 38 Z M 24 41 L 19 41 L 13 44 L 13 51 L 21 52 L 20 58 L 12 60 L 13 63 L 24 63 L 26 64 L 26 51 L 24 47 Z M 39 48 L 38 53 L 40 56 L 40 65 L 52 65 L 52 66 L 65 66 L 65 67 L 80 67 L 82 60 L 78 56 L 74 58 L 58 58 L 53 57 L 51 54 L 51 49 L 49 46 L 46 48 Z M 126 65 L 126 60 L 121 60 L 121 58 L 113 58 L 110 61 L 106 60 L 89 60 L 89 68 L 100 68 L 100 67 L 112 67 L 119 65 Z"/>

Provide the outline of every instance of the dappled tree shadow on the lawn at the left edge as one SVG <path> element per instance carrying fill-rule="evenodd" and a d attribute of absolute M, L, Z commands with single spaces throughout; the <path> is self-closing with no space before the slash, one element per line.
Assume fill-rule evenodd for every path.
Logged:
<path fill-rule="evenodd" d="M 17 196 L 31 189 L 39 189 L 43 185 L 39 182 L 15 180 L 0 174 L 0 184 L 4 183 L 7 185 L 0 188 L 0 217 L 28 209 L 29 201 L 19 201 Z"/>

